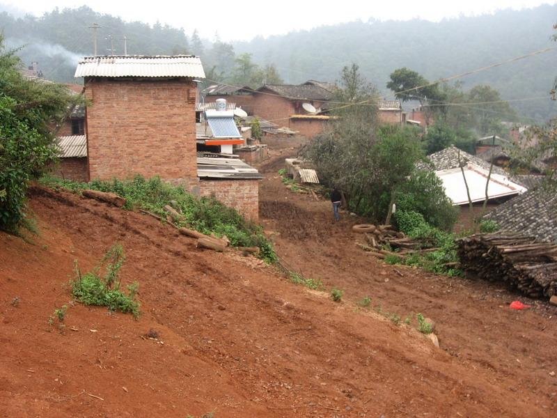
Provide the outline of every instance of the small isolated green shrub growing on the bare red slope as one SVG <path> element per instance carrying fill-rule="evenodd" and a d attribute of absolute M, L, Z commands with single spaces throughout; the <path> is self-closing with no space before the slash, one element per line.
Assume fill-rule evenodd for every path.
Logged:
<path fill-rule="evenodd" d="M 127 286 L 127 294 L 120 290 L 120 268 L 125 261 L 124 249 L 121 245 L 113 245 L 104 255 L 99 266 L 92 272 L 81 274 L 75 262 L 75 279 L 70 281 L 72 296 L 86 305 L 108 307 L 111 311 L 120 311 L 139 316 L 139 302 L 136 294 L 139 289 L 137 282 Z M 100 270 L 104 267 L 104 275 Z"/>

